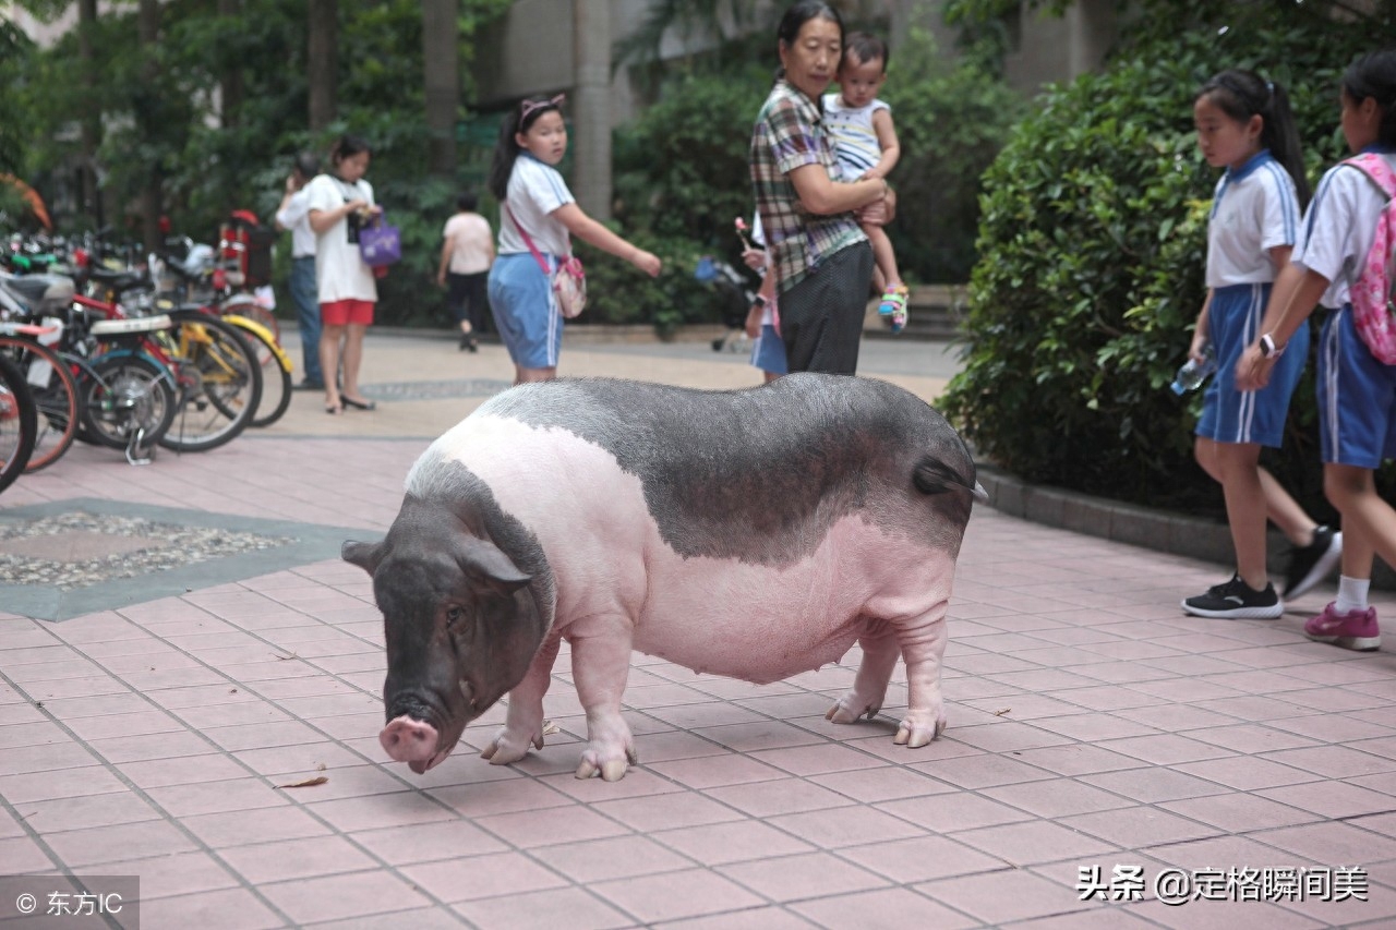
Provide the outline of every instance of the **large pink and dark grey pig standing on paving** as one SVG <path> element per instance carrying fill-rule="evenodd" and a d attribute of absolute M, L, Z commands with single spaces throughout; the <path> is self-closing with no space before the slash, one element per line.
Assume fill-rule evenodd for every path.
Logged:
<path fill-rule="evenodd" d="M 542 747 L 561 638 L 586 709 L 578 778 L 635 762 L 631 649 L 768 683 L 859 642 L 838 723 L 881 708 L 900 655 L 895 741 L 924 746 L 945 728 L 945 607 L 973 497 L 960 437 L 881 381 L 515 387 L 423 452 L 383 542 L 343 546 L 385 621 L 383 747 L 424 772 L 505 693 L 484 758 Z"/>

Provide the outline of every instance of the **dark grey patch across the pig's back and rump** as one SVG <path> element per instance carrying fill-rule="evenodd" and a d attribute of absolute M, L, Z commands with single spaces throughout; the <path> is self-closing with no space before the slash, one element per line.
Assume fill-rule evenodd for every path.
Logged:
<path fill-rule="evenodd" d="M 660 536 L 681 556 L 786 566 L 839 518 L 958 554 L 967 492 L 927 496 L 913 469 L 938 459 L 974 486 L 945 419 L 882 381 L 797 374 L 748 391 L 578 378 L 529 384 L 479 415 L 558 427 L 639 478 Z"/>

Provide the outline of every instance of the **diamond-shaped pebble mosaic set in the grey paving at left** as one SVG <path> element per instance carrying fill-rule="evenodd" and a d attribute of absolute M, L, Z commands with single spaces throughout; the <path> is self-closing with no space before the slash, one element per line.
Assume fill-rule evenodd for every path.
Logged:
<path fill-rule="evenodd" d="M 71 591 L 295 542 L 295 536 L 71 511 L 0 525 L 0 584 Z"/>

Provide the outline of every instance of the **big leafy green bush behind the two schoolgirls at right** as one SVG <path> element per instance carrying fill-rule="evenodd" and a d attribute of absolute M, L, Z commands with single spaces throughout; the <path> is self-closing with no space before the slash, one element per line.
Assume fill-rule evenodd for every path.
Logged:
<path fill-rule="evenodd" d="M 1030 480 L 1215 501 L 1189 454 L 1199 398 L 1167 390 L 1205 296 L 1217 180 L 1196 152 L 1194 95 L 1227 67 L 1286 84 L 1316 182 L 1343 154 L 1337 82 L 1371 47 L 1369 24 L 1161 1 L 1142 22 L 1103 74 L 1050 88 L 986 173 L 966 366 L 944 408 Z M 1311 366 L 1273 466 L 1322 510 L 1312 425 Z"/>

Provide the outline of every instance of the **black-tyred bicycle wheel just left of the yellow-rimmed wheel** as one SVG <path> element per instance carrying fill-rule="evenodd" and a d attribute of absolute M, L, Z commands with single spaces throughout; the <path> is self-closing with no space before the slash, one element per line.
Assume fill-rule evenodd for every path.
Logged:
<path fill-rule="evenodd" d="M 262 392 L 257 353 L 236 327 L 215 316 L 176 311 L 170 318 L 179 411 L 161 445 L 177 452 L 218 448 L 257 415 Z"/>

